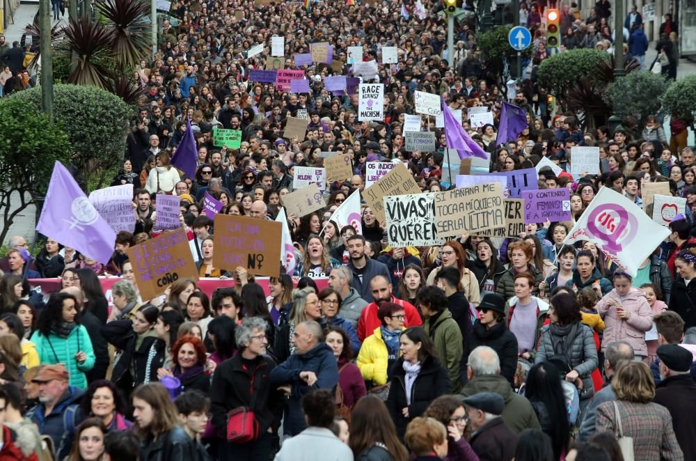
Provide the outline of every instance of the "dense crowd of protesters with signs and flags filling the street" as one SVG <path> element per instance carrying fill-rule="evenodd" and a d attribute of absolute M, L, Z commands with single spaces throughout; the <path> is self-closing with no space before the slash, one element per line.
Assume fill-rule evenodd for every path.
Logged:
<path fill-rule="evenodd" d="M 455 3 L 171 3 L 111 185 L 1 242 L 0 460 L 696 459 L 693 149 Z"/>

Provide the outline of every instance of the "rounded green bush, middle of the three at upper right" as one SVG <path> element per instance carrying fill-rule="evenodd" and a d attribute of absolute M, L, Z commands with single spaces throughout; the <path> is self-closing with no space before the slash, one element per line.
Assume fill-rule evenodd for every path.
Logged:
<path fill-rule="evenodd" d="M 602 97 L 614 112 L 640 119 L 660 110 L 660 97 L 667 86 L 669 83 L 663 75 L 641 70 L 609 84 Z"/>

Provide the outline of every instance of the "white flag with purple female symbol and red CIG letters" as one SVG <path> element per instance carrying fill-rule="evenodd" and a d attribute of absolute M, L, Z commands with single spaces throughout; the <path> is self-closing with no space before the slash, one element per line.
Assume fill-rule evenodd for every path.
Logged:
<path fill-rule="evenodd" d="M 638 267 L 667 235 L 670 230 L 647 217 L 638 205 L 610 187 L 602 187 L 563 243 L 594 242 L 608 258 L 635 277 Z"/>

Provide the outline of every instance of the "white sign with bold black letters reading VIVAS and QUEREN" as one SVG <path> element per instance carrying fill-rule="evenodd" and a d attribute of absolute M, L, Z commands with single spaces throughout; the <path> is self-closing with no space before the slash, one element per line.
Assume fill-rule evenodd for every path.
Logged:
<path fill-rule="evenodd" d="M 387 240 L 391 247 L 441 245 L 435 228 L 435 193 L 384 197 Z"/>

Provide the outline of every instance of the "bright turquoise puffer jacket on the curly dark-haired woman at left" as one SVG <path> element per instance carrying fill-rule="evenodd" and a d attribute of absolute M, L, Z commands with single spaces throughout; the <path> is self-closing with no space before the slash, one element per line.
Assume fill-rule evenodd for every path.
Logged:
<path fill-rule="evenodd" d="M 84 326 L 74 327 L 68 338 L 61 338 L 53 332 L 46 337 L 40 331 L 35 331 L 31 335 L 31 342 L 36 345 L 42 365 L 64 364 L 70 373 L 70 386 L 87 389 L 85 373 L 93 368 L 96 357 L 92 340 Z M 75 359 L 77 352 L 84 352 L 87 356 L 81 364 Z"/>

